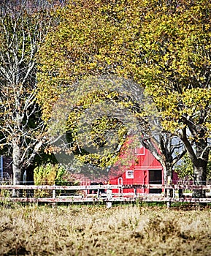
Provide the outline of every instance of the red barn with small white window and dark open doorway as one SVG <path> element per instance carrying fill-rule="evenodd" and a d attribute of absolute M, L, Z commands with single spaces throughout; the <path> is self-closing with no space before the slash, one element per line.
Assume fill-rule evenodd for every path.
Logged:
<path fill-rule="evenodd" d="M 143 146 L 137 148 L 135 154 L 137 159 L 131 162 L 130 167 L 125 167 L 118 176 L 110 176 L 110 184 L 164 184 L 163 167 L 153 154 Z M 113 192 L 118 192 L 118 189 L 113 189 Z M 123 192 L 134 192 L 134 189 L 123 189 Z M 137 193 L 161 192 L 161 189 L 137 189 Z"/>

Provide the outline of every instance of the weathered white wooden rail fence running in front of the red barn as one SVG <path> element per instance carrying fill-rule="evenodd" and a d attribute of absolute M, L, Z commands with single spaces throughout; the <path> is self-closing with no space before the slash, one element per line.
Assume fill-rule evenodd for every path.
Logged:
<path fill-rule="evenodd" d="M 132 193 L 123 193 L 123 189 L 133 189 Z M 137 193 L 137 189 L 162 189 L 161 194 L 142 194 Z M 0 197 L 1 202 L 26 202 L 26 203 L 106 203 L 107 207 L 114 202 L 166 202 L 169 206 L 173 202 L 188 203 L 211 203 L 211 185 L 194 186 L 186 184 L 178 185 L 87 185 L 87 186 L 35 186 L 35 185 L 0 185 L 0 191 L 23 189 L 26 197 Z M 34 197 L 34 191 L 52 191 L 51 197 Z M 118 193 L 112 192 L 118 189 Z M 193 198 L 192 191 L 203 189 L 206 192 L 205 198 Z M 89 194 L 90 190 L 95 190 L 96 194 Z M 103 193 L 101 191 L 104 190 Z M 68 192 L 71 194 L 68 195 Z M 171 193 L 169 193 L 171 191 Z M 184 193 L 187 192 L 188 193 Z M 32 192 L 32 193 L 30 193 Z M 61 192 L 66 195 L 62 196 Z M 3 193 L 1 193 L 2 195 Z M 4 195 L 3 194 L 3 195 Z"/>

